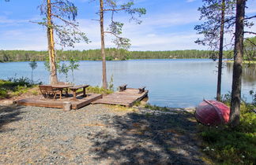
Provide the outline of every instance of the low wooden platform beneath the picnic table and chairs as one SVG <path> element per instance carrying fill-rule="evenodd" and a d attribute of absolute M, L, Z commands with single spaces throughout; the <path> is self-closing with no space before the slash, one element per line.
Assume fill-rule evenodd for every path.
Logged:
<path fill-rule="evenodd" d="M 40 97 L 41 96 L 21 99 L 17 101 L 17 105 L 63 108 L 63 102 L 70 101 L 72 109 L 78 109 L 89 105 L 92 101 L 102 98 L 102 94 L 86 94 L 86 97 L 77 97 L 76 100 L 73 100 L 73 97 L 63 97 L 62 99 L 40 99 Z"/>

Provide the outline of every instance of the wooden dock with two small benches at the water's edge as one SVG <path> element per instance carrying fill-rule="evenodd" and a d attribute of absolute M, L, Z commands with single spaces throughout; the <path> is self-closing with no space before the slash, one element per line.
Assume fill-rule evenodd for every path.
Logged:
<path fill-rule="evenodd" d="M 148 93 L 149 90 L 145 90 L 143 93 L 139 94 L 139 89 L 127 88 L 122 92 L 117 91 L 113 94 L 108 94 L 97 101 L 93 101 L 92 104 L 124 105 L 131 107 L 134 105 L 135 101 L 141 101 Z"/>

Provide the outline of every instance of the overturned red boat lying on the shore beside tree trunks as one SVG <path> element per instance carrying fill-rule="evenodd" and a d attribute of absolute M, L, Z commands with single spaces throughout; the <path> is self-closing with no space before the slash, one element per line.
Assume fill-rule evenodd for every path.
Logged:
<path fill-rule="evenodd" d="M 202 101 L 196 108 L 195 118 L 205 125 L 228 123 L 230 108 L 219 101 Z"/>

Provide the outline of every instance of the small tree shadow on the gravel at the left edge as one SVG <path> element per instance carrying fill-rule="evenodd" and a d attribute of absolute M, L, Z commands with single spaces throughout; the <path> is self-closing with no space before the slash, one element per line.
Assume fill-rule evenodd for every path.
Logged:
<path fill-rule="evenodd" d="M 4 125 L 22 119 L 19 117 L 21 113 L 21 106 L 0 106 L 0 133 L 6 131 L 6 129 L 3 128 Z"/>

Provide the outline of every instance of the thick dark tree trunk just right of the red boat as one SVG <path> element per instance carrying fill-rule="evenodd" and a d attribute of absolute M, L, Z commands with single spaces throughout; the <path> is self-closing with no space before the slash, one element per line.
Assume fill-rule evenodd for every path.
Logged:
<path fill-rule="evenodd" d="M 241 82 L 243 71 L 243 19 L 246 0 L 236 1 L 235 18 L 235 53 L 232 82 L 232 101 L 230 112 L 230 126 L 239 125 L 240 119 L 240 101 L 241 101 Z"/>

